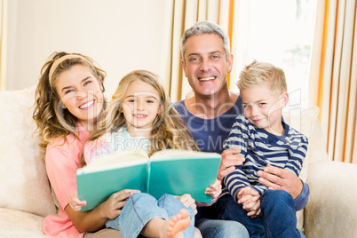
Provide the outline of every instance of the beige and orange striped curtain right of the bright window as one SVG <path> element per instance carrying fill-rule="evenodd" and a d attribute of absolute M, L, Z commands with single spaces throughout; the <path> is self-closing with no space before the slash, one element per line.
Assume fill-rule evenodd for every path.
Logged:
<path fill-rule="evenodd" d="M 309 104 L 321 108 L 329 159 L 357 163 L 357 16 L 354 0 L 318 1 Z"/>

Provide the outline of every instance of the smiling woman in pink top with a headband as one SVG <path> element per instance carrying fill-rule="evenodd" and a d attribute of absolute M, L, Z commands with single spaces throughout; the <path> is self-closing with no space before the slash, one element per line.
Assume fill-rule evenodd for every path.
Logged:
<path fill-rule="evenodd" d="M 70 194 L 76 191 L 75 172 L 82 167 L 84 141 L 96 131 L 97 121 L 106 107 L 103 98 L 106 73 L 95 66 L 91 58 L 66 52 L 54 53 L 41 73 L 33 118 L 59 207 L 58 214 L 44 218 L 44 234 L 83 237 L 85 232 L 102 229 L 108 218 L 118 216 L 123 208 L 121 202 L 137 191 L 117 192 L 87 212 L 68 206 Z M 120 236 L 120 232 L 112 229 L 103 229 L 96 234 Z"/>

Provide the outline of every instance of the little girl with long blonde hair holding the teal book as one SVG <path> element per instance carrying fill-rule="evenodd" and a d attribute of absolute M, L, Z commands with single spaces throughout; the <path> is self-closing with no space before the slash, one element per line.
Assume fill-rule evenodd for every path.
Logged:
<path fill-rule="evenodd" d="M 133 71 L 125 75 L 107 109 L 106 119 L 99 123 L 99 132 L 85 145 L 85 163 L 91 163 L 106 155 L 118 154 L 125 149 L 143 148 L 148 155 L 167 148 L 198 150 L 194 140 L 186 131 L 181 117 L 171 106 L 157 75 L 145 70 Z M 220 194 L 219 182 L 206 189 L 206 194 L 214 198 Z M 160 227 L 166 219 L 175 214 L 184 217 L 188 210 L 191 222 L 171 226 L 185 237 L 194 235 L 195 205 L 179 202 L 185 196 L 176 198 L 164 194 L 158 201 L 149 194 L 136 193 L 126 201 L 118 218 L 109 220 L 107 226 L 120 229 L 123 237 L 137 237 L 139 234 L 158 237 Z M 85 202 L 73 199 L 71 205 L 80 209 Z M 155 221 L 155 224 L 154 224 Z M 163 224 L 163 225 L 162 225 Z M 189 225 L 189 226 L 188 226 Z M 186 229 L 186 227 L 188 228 Z M 167 229 L 167 228 L 166 228 Z"/>

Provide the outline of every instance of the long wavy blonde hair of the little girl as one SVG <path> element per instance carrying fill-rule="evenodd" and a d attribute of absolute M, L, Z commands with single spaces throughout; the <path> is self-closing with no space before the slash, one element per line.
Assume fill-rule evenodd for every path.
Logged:
<path fill-rule="evenodd" d="M 160 77 L 147 70 L 135 70 L 123 77 L 112 97 L 110 106 L 104 112 L 105 120 L 99 123 L 98 132 L 91 136 L 89 140 L 98 139 L 107 132 L 116 132 L 126 126 L 123 115 L 123 99 L 129 84 L 136 80 L 141 80 L 154 87 L 161 100 L 161 111 L 155 118 L 149 138 L 148 155 L 153 155 L 156 151 L 167 148 L 198 150 L 186 129 L 182 116 L 172 107 L 171 100 L 163 88 Z"/>

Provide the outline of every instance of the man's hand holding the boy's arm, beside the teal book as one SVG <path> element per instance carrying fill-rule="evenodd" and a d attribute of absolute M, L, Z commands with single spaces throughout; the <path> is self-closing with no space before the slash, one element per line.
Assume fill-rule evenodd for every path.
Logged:
<path fill-rule="evenodd" d="M 245 158 L 241 155 L 240 149 L 230 148 L 222 152 L 222 160 L 219 165 L 217 179 L 222 180 L 225 176 L 235 170 L 235 166 L 242 165 Z"/>

